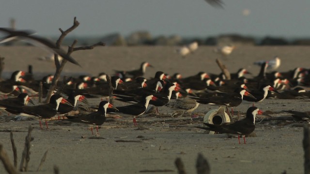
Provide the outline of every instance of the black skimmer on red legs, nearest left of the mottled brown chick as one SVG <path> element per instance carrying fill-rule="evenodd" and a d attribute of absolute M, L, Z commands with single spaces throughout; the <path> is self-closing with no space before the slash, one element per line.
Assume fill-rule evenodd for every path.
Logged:
<path fill-rule="evenodd" d="M 157 100 L 157 98 L 153 95 L 147 95 L 147 96 L 143 96 L 142 101 L 139 103 L 127 105 L 127 106 L 119 106 L 116 108 L 119 110 L 119 112 L 123 114 L 134 116 L 133 122 L 134 122 L 134 125 L 137 125 L 136 116 L 141 116 L 144 114 L 151 100 Z"/>

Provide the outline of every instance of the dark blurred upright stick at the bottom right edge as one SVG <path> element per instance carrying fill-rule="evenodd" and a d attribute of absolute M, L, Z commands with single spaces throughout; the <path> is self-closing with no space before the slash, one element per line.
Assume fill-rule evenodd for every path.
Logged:
<path fill-rule="evenodd" d="M 309 126 L 304 126 L 304 140 L 302 142 L 305 151 L 305 174 L 310 174 L 310 132 Z"/>

